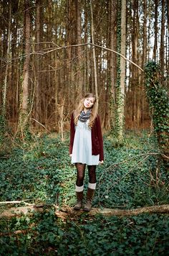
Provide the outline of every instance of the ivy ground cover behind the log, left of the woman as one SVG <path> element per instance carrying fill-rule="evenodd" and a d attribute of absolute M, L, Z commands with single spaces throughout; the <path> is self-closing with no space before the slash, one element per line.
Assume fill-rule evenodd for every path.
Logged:
<path fill-rule="evenodd" d="M 74 175 L 71 168 L 68 147 L 59 138 L 44 137 L 38 143 L 14 148 L 11 157 L 0 162 L 0 170 L 3 170 L 0 174 L 3 181 L 0 183 L 1 201 L 60 202 L 64 196 L 60 197 L 60 192 L 68 190 L 69 186 L 64 186 L 63 180 L 71 180 Z"/>

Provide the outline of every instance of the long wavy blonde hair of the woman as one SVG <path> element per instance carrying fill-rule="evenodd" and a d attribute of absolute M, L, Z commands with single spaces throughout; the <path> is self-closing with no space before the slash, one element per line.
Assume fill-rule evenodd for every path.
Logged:
<path fill-rule="evenodd" d="M 87 93 L 81 101 L 79 101 L 79 105 L 77 106 L 77 109 L 74 110 L 74 124 L 77 125 L 79 114 L 84 109 L 84 100 L 87 98 L 94 98 L 94 104 L 92 106 L 92 112 L 89 119 L 89 127 L 92 128 L 95 118 L 97 116 L 97 110 L 98 110 L 98 104 L 95 94 L 93 93 Z"/>

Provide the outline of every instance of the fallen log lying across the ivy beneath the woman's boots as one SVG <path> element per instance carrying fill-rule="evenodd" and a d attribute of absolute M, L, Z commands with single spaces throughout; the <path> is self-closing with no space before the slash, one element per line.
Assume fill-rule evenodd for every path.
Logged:
<path fill-rule="evenodd" d="M 51 206 L 45 206 L 51 207 Z M 137 209 L 100 209 L 100 208 L 92 208 L 90 212 L 85 212 L 83 210 L 75 211 L 71 207 L 64 206 L 62 208 L 59 208 L 59 206 L 54 205 L 56 211 L 55 214 L 59 218 L 67 219 L 79 216 L 81 214 L 88 214 L 90 216 L 95 216 L 96 214 L 102 214 L 104 216 L 136 216 L 143 213 L 149 213 L 149 214 L 168 214 L 169 213 L 169 205 L 163 204 L 160 206 L 145 206 L 140 207 Z M 29 214 L 33 211 L 40 211 L 42 212 L 44 210 L 44 205 L 31 205 L 31 206 L 20 206 L 20 207 L 13 207 L 10 209 L 6 209 L 0 213 L 0 218 L 10 218 L 12 216 L 19 216 L 21 214 Z"/>

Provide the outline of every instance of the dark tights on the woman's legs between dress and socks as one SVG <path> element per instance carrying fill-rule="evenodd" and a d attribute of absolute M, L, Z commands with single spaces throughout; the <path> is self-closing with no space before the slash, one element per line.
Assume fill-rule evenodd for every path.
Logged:
<path fill-rule="evenodd" d="M 77 168 L 76 185 L 81 187 L 83 186 L 86 165 L 83 163 L 75 163 L 75 165 Z M 87 168 L 88 168 L 88 174 L 89 174 L 89 182 L 96 183 L 96 165 L 87 165 Z"/>

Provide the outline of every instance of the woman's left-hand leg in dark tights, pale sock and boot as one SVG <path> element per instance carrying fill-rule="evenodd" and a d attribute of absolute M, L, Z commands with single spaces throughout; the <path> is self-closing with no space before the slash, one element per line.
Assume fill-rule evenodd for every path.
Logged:
<path fill-rule="evenodd" d="M 85 164 L 75 163 L 77 168 L 77 181 L 76 181 L 76 195 L 77 195 L 77 204 L 74 206 L 74 210 L 79 210 L 82 207 L 82 199 L 83 199 L 83 182 L 84 182 L 84 172 L 85 172 Z"/>

